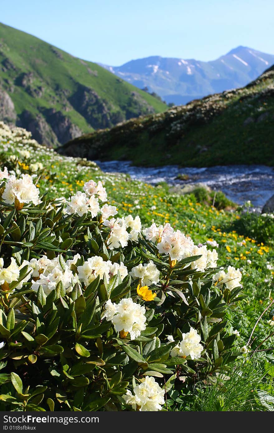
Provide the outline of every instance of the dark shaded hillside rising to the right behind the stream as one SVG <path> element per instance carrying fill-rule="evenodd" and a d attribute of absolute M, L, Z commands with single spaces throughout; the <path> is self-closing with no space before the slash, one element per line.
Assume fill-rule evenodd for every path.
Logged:
<path fill-rule="evenodd" d="M 274 66 L 246 87 L 141 116 L 68 142 L 60 152 L 134 165 L 274 165 Z"/>

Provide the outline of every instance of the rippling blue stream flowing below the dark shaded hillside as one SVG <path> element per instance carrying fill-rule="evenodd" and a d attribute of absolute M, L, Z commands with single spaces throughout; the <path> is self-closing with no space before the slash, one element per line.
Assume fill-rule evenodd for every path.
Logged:
<path fill-rule="evenodd" d="M 96 161 L 106 172 L 130 174 L 132 179 L 149 184 L 167 182 L 170 185 L 200 183 L 213 190 L 223 191 L 235 203 L 243 204 L 250 200 L 259 210 L 274 194 L 274 169 L 265 165 L 228 165 L 209 168 L 180 168 L 177 165 L 164 167 L 135 167 L 130 161 Z M 187 174 L 187 181 L 176 179 L 178 174 Z"/>

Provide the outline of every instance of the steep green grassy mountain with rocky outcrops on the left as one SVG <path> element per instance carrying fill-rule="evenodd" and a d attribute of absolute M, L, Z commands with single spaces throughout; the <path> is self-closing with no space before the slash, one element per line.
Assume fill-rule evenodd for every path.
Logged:
<path fill-rule="evenodd" d="M 46 145 L 167 106 L 98 66 L 0 23 L 0 120 Z"/>

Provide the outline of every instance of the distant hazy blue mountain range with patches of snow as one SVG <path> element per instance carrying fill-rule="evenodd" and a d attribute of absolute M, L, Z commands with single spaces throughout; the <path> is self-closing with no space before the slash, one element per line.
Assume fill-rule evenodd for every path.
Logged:
<path fill-rule="evenodd" d="M 140 89 L 148 87 L 167 103 L 181 105 L 212 93 L 243 87 L 273 63 L 274 55 L 239 46 L 207 62 L 152 56 L 122 66 L 102 66 Z"/>

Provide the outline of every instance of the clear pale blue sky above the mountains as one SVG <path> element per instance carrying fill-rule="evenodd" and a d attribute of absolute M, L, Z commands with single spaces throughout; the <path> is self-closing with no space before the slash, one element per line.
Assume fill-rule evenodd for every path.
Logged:
<path fill-rule="evenodd" d="M 273 0 L 13 0 L 0 22 L 84 60 L 214 60 L 238 45 L 274 54 Z"/>

